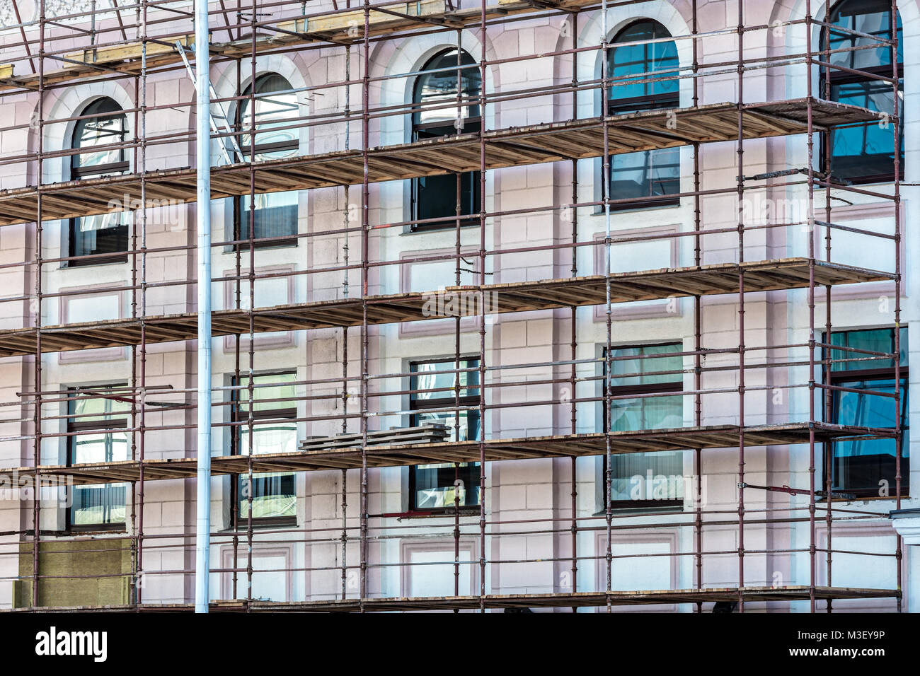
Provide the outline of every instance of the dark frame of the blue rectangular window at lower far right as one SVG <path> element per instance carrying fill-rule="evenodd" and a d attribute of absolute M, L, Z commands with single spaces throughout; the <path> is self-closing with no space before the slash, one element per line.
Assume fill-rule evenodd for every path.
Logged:
<path fill-rule="evenodd" d="M 848 334 L 848 333 L 857 333 L 860 331 L 878 331 L 878 330 L 886 330 L 886 329 L 891 331 L 892 337 L 893 337 L 893 332 L 895 330 L 894 327 L 850 328 L 850 329 L 841 329 L 839 331 L 832 330 L 831 333 L 832 334 Z M 904 338 L 907 337 L 906 331 L 903 332 L 903 336 Z M 825 344 L 828 344 L 828 345 L 833 344 L 831 342 L 833 338 L 828 337 L 826 335 L 824 335 L 822 338 Z M 837 347 L 840 347 L 840 346 L 835 346 L 829 351 L 834 351 L 834 349 L 837 349 Z M 824 350 L 828 350 L 828 349 L 824 348 L 822 352 Z M 870 356 L 870 355 L 864 355 L 864 354 L 859 354 L 859 353 L 846 352 L 843 358 L 844 359 L 849 358 L 851 354 L 855 354 L 857 358 Z M 904 355 L 905 355 L 905 358 L 909 359 L 909 352 L 906 349 L 904 350 Z M 825 359 L 826 359 L 826 354 L 822 353 L 821 372 L 822 372 L 822 383 L 824 384 L 838 386 L 841 383 L 850 383 L 850 382 L 857 381 L 857 380 L 865 380 L 865 381 L 891 380 L 892 382 L 894 381 L 894 364 L 893 363 L 891 364 L 891 366 L 881 367 L 881 368 L 852 369 L 852 370 L 843 369 L 840 371 L 834 371 L 833 365 L 832 365 L 831 371 L 828 372 L 827 362 L 825 361 Z M 882 358 L 879 358 L 879 359 L 882 359 Z M 903 471 L 904 470 L 903 461 L 906 457 L 906 459 L 909 462 L 910 455 L 909 454 L 907 456 L 904 455 L 904 434 L 903 432 L 905 432 L 906 430 L 910 430 L 910 411 L 906 409 L 908 398 L 905 396 L 905 393 L 910 391 L 909 364 L 901 365 L 899 368 L 899 371 L 900 371 L 901 380 L 903 380 L 903 387 L 901 388 L 901 397 L 899 401 L 899 404 L 902 407 L 902 410 L 899 411 L 898 415 L 901 417 L 903 421 L 906 421 L 907 424 L 902 425 L 901 427 L 901 431 L 902 431 L 901 439 L 900 440 L 892 439 L 891 441 L 900 444 L 901 459 L 902 459 L 902 477 L 901 477 L 902 496 L 901 497 L 908 498 L 910 497 L 910 479 L 911 479 L 910 464 L 907 465 L 907 471 L 905 472 Z M 871 391 L 871 390 L 867 390 L 867 391 Z M 830 411 L 830 414 L 831 414 L 830 422 L 832 424 L 838 424 L 836 423 L 836 420 L 838 417 L 838 407 L 840 406 L 840 398 L 839 398 L 840 394 L 841 393 L 836 390 L 825 390 L 824 391 L 823 402 L 822 402 L 823 403 L 822 415 L 826 416 L 827 412 Z M 891 428 L 891 430 L 893 429 L 894 428 Z M 854 498 L 856 499 L 880 498 L 878 486 L 867 487 L 867 488 L 862 488 L 862 487 L 853 488 L 853 487 L 846 487 L 843 485 L 840 485 L 839 487 L 836 486 L 836 482 L 834 480 L 834 477 L 835 477 L 835 474 L 834 474 L 835 462 L 834 461 L 837 460 L 837 455 L 835 453 L 836 446 L 837 446 L 837 442 L 835 441 L 828 441 L 822 444 L 822 470 L 825 474 L 827 473 L 828 461 L 830 461 L 830 472 L 831 472 L 830 476 L 827 476 L 827 475 L 823 476 L 822 484 L 826 486 L 827 480 L 828 478 L 830 478 L 831 487 L 835 493 L 846 493 L 846 494 L 854 496 Z M 896 447 L 895 453 L 897 453 L 897 451 L 898 449 Z M 907 447 L 907 451 L 908 453 L 910 452 L 909 447 Z M 895 455 L 894 457 L 896 458 L 897 455 Z M 884 478 L 884 477 L 880 476 L 879 478 Z M 893 487 L 893 485 L 891 486 L 891 490 L 895 490 L 895 487 Z M 833 498 L 833 495 L 832 495 L 832 498 Z M 890 495 L 885 498 L 894 499 L 896 498 L 896 496 L 893 493 L 890 493 Z"/>

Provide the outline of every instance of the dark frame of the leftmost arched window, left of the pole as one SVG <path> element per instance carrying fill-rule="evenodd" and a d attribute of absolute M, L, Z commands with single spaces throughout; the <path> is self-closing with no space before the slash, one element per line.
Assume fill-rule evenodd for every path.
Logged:
<path fill-rule="evenodd" d="M 112 105 L 116 109 L 109 110 L 108 112 L 100 112 L 96 115 L 87 116 L 86 111 L 96 106 L 98 103 L 103 101 L 111 101 Z M 91 120 L 98 120 L 100 118 L 105 119 L 118 119 L 121 118 L 121 141 L 118 143 L 126 143 L 128 140 L 128 116 L 125 114 L 124 109 L 121 108 L 121 105 L 112 97 L 97 97 L 87 103 L 79 116 L 84 118 L 83 120 L 77 120 L 74 126 L 73 131 L 70 133 L 70 150 L 80 151 L 78 153 L 73 153 L 70 155 L 70 162 L 68 164 L 69 176 L 71 180 L 87 180 L 91 178 L 101 178 L 104 176 L 118 176 L 127 174 L 131 171 L 131 160 L 128 158 L 127 151 L 125 148 L 113 148 L 112 150 L 118 150 L 119 155 L 123 158 L 119 162 L 107 162 L 104 165 L 94 165 L 94 166 L 77 166 L 77 163 L 80 161 L 82 155 L 89 153 L 89 148 L 92 146 L 81 146 L 77 144 L 77 133 L 81 129 L 81 125 L 89 123 Z M 107 143 L 102 143 L 106 145 Z M 119 212 L 121 214 L 127 214 L 127 212 Z M 105 214 L 99 214 L 105 215 Z M 131 224 L 122 223 L 113 228 L 104 228 L 105 230 L 116 230 L 118 228 L 124 228 L 125 231 L 125 242 L 124 250 L 120 252 L 112 252 L 109 256 L 99 256 L 97 253 L 76 253 L 76 235 L 77 235 L 77 223 L 80 222 L 83 218 L 96 218 L 98 216 L 82 216 L 76 218 L 67 219 L 67 258 L 66 267 L 68 268 L 80 268 L 86 267 L 89 265 L 106 265 L 109 263 L 126 263 L 128 262 L 129 251 L 131 247 Z M 121 217 L 126 218 L 126 215 Z M 127 218 L 126 218 L 127 220 Z M 78 258 L 78 257 L 92 257 L 92 258 Z"/>

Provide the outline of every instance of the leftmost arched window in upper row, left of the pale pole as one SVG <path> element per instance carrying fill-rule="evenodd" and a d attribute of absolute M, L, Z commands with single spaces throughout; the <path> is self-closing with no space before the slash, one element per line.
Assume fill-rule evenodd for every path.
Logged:
<path fill-rule="evenodd" d="M 71 147 L 70 178 L 86 179 L 125 174 L 128 151 L 116 146 L 127 139 L 128 120 L 111 98 L 97 98 L 77 116 Z M 122 262 L 128 250 L 128 213 L 102 213 L 71 219 L 68 251 L 71 257 L 112 254 L 102 258 L 74 258 L 69 265 Z"/>

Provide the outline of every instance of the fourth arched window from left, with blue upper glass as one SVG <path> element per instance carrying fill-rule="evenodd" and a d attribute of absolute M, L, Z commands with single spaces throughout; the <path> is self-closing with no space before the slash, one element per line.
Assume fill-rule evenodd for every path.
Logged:
<path fill-rule="evenodd" d="M 679 80 L 665 78 L 678 73 L 677 46 L 671 34 L 657 21 L 643 19 L 616 34 L 615 46 L 607 52 L 607 75 L 614 78 L 610 86 L 607 112 L 622 115 L 680 106 Z M 620 46 L 616 46 L 620 43 Z M 631 44 L 638 43 L 638 44 Z M 636 75 L 635 77 L 627 77 Z M 620 208 L 640 206 L 650 197 L 680 192 L 680 149 L 656 150 L 612 155 L 610 158 L 610 198 L 634 199 Z M 676 204 L 677 200 L 654 200 L 652 206 Z"/>

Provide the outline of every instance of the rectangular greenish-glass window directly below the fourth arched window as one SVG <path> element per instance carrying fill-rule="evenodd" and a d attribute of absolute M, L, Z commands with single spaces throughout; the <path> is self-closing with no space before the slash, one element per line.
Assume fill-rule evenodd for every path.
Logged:
<path fill-rule="evenodd" d="M 666 343 L 613 350 L 611 394 L 627 398 L 611 402 L 609 418 L 604 409 L 604 430 L 608 419 L 614 431 L 683 427 L 683 396 L 666 393 L 683 391 L 684 358 L 680 355 L 656 356 L 683 349 L 681 343 Z M 611 499 L 615 509 L 683 506 L 683 452 L 622 453 L 613 455 L 612 462 Z"/>

